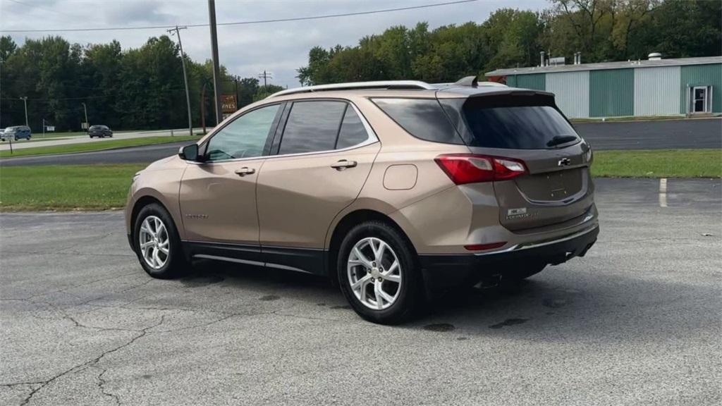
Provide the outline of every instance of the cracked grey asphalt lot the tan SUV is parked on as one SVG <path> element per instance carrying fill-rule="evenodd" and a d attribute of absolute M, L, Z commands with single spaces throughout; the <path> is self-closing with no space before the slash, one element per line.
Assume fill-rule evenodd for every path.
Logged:
<path fill-rule="evenodd" d="M 0 215 L 0 404 L 719 405 L 720 186 L 602 179 L 585 258 L 401 327 L 305 275 L 153 280 L 118 212 Z"/>

